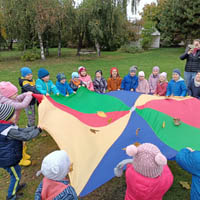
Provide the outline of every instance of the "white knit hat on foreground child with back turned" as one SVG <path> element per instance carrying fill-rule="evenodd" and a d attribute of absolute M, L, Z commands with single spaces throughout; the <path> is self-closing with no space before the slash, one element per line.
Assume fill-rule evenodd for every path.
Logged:
<path fill-rule="evenodd" d="M 36 175 L 42 173 L 48 179 L 61 181 L 69 173 L 70 164 L 67 153 L 64 150 L 57 150 L 43 159 L 41 170 Z"/>

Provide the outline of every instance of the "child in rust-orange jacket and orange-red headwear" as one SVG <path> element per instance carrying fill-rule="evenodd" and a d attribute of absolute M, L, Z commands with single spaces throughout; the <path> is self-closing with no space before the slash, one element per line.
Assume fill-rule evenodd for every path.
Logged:
<path fill-rule="evenodd" d="M 116 67 L 111 68 L 110 78 L 108 78 L 108 91 L 120 90 L 122 78 L 119 76 L 118 69 Z"/>

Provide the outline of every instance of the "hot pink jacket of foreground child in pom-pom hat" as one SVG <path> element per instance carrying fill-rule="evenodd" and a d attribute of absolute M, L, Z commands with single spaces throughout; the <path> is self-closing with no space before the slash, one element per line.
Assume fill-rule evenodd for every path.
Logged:
<path fill-rule="evenodd" d="M 164 166 L 161 176 L 148 178 L 137 173 L 132 164 L 128 164 L 125 200 L 162 200 L 172 183 L 173 175 L 167 165 Z"/>

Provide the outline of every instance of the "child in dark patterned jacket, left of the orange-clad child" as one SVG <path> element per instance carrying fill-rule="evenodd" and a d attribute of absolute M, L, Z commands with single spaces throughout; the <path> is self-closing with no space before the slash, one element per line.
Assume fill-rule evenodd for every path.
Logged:
<path fill-rule="evenodd" d="M 97 70 L 95 72 L 95 79 L 93 81 L 94 85 L 94 91 L 97 93 L 106 93 L 107 89 L 107 82 L 106 80 L 102 77 L 103 73 L 101 70 Z"/>

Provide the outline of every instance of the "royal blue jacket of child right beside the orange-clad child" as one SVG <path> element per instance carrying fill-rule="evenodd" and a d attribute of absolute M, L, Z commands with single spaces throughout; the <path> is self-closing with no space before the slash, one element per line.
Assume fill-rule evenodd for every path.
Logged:
<path fill-rule="evenodd" d="M 127 91 L 130 91 L 131 89 L 135 91 L 137 86 L 138 86 L 138 77 L 136 75 L 135 76 L 130 76 L 130 74 L 126 75 L 121 83 L 121 89 Z"/>

